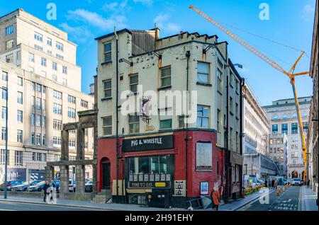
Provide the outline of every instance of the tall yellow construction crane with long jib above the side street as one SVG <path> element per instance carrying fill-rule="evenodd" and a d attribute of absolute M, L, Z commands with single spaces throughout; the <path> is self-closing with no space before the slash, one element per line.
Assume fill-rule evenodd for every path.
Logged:
<path fill-rule="evenodd" d="M 256 54 L 257 57 L 259 57 L 262 60 L 264 60 L 264 62 L 267 62 L 267 64 L 269 64 L 270 66 L 274 67 L 274 69 L 276 69 L 278 71 L 281 71 L 281 73 L 286 74 L 286 76 L 289 77 L 291 86 L 293 88 L 293 96 L 295 98 L 296 111 L 297 111 L 297 115 L 298 115 L 298 125 L 299 125 L 299 130 L 300 130 L 300 135 L 301 135 L 301 143 L 302 143 L 302 150 L 303 150 L 303 162 L 305 164 L 305 171 L 303 173 L 303 180 L 305 180 L 306 179 L 306 171 L 307 171 L 307 168 L 306 168 L 306 166 L 307 166 L 306 139 L 305 139 L 305 135 L 303 134 L 303 122 L 301 120 L 301 113 L 300 113 L 300 108 L 299 108 L 298 95 L 297 95 L 296 85 L 295 85 L 295 76 L 301 76 L 301 75 L 309 74 L 309 71 L 296 73 L 296 74 L 294 73 L 298 62 L 301 60 L 301 57 L 303 57 L 303 54 L 305 54 L 305 52 L 301 53 L 301 56 L 298 57 L 297 61 L 293 64 L 293 67 L 291 67 L 290 71 L 288 72 L 288 71 L 284 70 L 284 68 L 282 68 L 279 64 L 277 64 L 272 59 L 267 57 L 265 54 L 263 54 L 262 52 L 259 52 L 256 48 L 252 47 L 252 45 L 248 44 L 247 42 L 245 42 L 245 40 L 242 40 L 242 38 L 240 38 L 237 35 L 235 35 L 235 33 L 231 32 L 227 28 L 223 27 L 223 25 L 220 25 L 220 23 L 217 23 L 216 21 L 214 21 L 213 18 L 209 17 L 208 15 L 206 15 L 205 13 L 200 11 L 198 8 L 195 8 L 194 6 L 189 6 L 189 8 L 193 9 L 194 11 L 196 11 L 196 13 L 198 13 L 200 16 L 205 18 L 208 22 L 213 23 L 213 25 L 215 25 L 218 29 L 222 30 L 226 35 L 232 37 L 233 40 L 235 40 L 236 42 L 240 43 L 240 45 L 245 47 L 247 50 L 250 50 L 250 52 Z"/>

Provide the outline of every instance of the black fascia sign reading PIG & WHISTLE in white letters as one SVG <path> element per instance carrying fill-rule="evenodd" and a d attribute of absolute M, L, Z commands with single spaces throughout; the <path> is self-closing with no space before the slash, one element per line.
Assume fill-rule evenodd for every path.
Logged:
<path fill-rule="evenodd" d="M 173 135 L 123 139 L 122 151 L 145 151 L 174 148 Z"/>

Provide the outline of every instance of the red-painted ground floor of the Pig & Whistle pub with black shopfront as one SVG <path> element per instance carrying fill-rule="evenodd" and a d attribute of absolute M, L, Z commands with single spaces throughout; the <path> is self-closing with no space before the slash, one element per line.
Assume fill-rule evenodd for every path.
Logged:
<path fill-rule="evenodd" d="M 228 173 L 232 180 L 228 182 L 228 197 L 238 197 L 242 156 L 232 151 L 225 154 L 225 149 L 216 145 L 216 133 L 214 129 L 189 128 L 187 136 L 186 129 L 176 129 L 119 137 L 118 157 L 116 137 L 101 137 L 98 191 L 111 192 L 113 202 L 186 207 L 187 200 L 208 196 L 214 187 L 223 194 L 224 162 L 229 157 L 233 171 Z"/>

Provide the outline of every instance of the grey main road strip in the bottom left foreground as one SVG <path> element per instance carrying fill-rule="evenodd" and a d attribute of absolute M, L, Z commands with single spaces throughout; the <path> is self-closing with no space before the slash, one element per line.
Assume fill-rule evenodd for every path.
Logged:
<path fill-rule="evenodd" d="M 0 201 L 0 211 L 91 211 L 81 207 L 67 207 L 54 204 L 32 204 L 23 202 Z"/>

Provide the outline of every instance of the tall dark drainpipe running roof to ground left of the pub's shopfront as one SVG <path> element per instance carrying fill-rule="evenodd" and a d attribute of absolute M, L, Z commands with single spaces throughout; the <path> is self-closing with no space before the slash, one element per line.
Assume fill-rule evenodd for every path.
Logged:
<path fill-rule="evenodd" d="M 118 34 L 116 35 L 116 198 L 118 198 Z"/>

